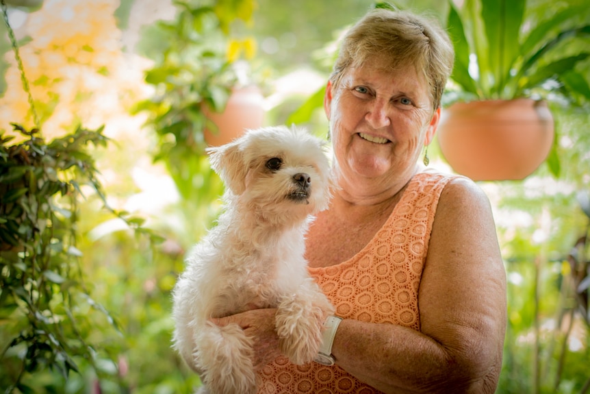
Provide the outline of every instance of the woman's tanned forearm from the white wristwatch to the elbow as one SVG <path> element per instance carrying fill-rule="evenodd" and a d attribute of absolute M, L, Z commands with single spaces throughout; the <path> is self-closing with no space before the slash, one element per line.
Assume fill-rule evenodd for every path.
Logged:
<path fill-rule="evenodd" d="M 332 352 L 339 367 L 384 393 L 486 392 L 473 358 L 400 325 L 344 320 Z"/>

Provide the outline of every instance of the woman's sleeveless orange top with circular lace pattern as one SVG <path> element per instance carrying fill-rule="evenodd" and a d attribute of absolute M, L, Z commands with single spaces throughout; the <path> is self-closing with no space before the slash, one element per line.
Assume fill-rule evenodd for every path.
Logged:
<path fill-rule="evenodd" d="M 356 256 L 310 268 L 336 315 L 420 330 L 418 287 L 441 191 L 450 175 L 418 173 L 385 225 Z M 283 356 L 259 372 L 259 393 L 379 393 L 337 367 L 293 365 Z"/>

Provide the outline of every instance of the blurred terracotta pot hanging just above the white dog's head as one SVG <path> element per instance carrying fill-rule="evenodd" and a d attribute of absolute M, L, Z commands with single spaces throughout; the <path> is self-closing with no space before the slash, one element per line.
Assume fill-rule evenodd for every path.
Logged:
<path fill-rule="evenodd" d="M 205 129 L 203 134 L 207 145 L 224 145 L 241 136 L 245 129 L 261 127 L 264 120 L 262 103 L 260 89 L 257 86 L 246 86 L 233 90 L 223 112 L 203 108 L 205 116 L 218 127 L 217 130 Z"/>

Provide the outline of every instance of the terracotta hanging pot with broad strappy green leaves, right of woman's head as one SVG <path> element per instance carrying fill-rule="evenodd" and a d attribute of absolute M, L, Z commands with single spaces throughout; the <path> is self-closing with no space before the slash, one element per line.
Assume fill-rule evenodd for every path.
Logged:
<path fill-rule="evenodd" d="M 539 16 L 526 0 L 449 5 L 455 64 L 444 95 L 445 104 L 452 104 L 438 129 L 441 152 L 455 171 L 474 180 L 522 179 L 553 144 L 547 101 L 590 99 L 584 74 L 588 7 L 580 3 Z M 559 161 L 550 158 L 550 170 L 558 175 Z"/>

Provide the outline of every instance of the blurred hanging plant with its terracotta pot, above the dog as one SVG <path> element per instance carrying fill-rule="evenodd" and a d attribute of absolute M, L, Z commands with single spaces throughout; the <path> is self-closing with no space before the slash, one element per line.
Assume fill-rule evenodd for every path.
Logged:
<path fill-rule="evenodd" d="M 138 109 L 148 111 L 159 138 L 155 160 L 166 163 L 183 199 L 194 204 L 206 192 L 201 186 L 213 182 L 205 147 L 262 124 L 262 96 L 247 63 L 255 41 L 231 29 L 251 23 L 254 1 L 174 3 L 175 20 L 160 21 L 145 37 L 152 48 L 146 55 L 155 60 L 145 79 L 155 94 Z"/>

